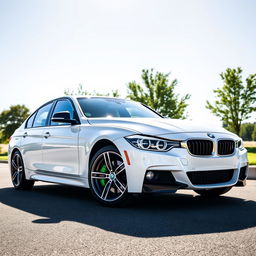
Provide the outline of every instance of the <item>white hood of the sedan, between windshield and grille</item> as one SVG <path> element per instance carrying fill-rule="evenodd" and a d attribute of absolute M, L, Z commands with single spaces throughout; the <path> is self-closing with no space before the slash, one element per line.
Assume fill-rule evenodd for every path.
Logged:
<path fill-rule="evenodd" d="M 222 127 L 207 123 L 170 118 L 89 118 L 88 122 L 96 126 L 108 126 L 134 131 L 148 135 L 163 135 L 170 133 L 215 132 L 228 133 Z"/>

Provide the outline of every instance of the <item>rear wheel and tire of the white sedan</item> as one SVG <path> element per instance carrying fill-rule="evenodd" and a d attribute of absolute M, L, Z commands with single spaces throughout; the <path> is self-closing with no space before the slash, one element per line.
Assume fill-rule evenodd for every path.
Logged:
<path fill-rule="evenodd" d="M 30 190 L 34 186 L 33 180 L 27 180 L 22 156 L 15 151 L 11 158 L 11 179 L 15 189 Z"/>

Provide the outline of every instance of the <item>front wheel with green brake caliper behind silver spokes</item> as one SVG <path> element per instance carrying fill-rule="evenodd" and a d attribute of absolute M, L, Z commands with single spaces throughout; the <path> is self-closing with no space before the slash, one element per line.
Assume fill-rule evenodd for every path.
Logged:
<path fill-rule="evenodd" d="M 105 146 L 92 157 L 88 179 L 93 196 L 101 204 L 123 206 L 128 202 L 124 161 L 114 146 Z"/>

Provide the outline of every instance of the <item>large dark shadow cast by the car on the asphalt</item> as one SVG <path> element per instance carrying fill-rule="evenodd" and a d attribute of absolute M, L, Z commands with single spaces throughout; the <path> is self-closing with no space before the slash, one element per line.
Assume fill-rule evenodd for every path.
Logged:
<path fill-rule="evenodd" d="M 229 196 L 145 196 L 126 208 L 107 208 L 87 189 L 39 185 L 32 191 L 0 189 L 0 202 L 36 215 L 35 224 L 75 221 L 135 237 L 206 234 L 256 226 L 256 202 Z"/>

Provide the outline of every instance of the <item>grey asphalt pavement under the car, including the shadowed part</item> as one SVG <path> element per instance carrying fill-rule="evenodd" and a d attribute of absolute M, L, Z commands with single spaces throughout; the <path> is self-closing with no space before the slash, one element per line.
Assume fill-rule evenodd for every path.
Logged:
<path fill-rule="evenodd" d="M 105 208 L 89 191 L 12 188 L 0 164 L 0 255 L 255 255 L 256 181 L 218 199 L 194 192 Z"/>

